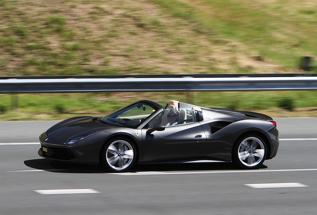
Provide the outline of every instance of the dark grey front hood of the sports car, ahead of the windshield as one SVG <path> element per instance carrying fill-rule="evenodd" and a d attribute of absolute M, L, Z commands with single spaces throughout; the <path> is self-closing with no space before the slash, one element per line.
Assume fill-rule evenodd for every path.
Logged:
<path fill-rule="evenodd" d="M 94 131 L 114 127 L 93 120 L 93 116 L 79 116 L 61 121 L 50 127 L 46 134 L 50 138 L 68 140 Z"/>

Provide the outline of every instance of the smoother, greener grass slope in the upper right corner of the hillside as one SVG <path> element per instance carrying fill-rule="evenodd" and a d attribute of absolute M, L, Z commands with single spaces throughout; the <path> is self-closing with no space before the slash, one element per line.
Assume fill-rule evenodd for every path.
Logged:
<path fill-rule="evenodd" d="M 298 67 L 300 56 L 317 54 L 317 15 L 309 0 L 151 2 L 174 17 L 197 23 L 211 37 L 242 42 L 287 68 Z"/>

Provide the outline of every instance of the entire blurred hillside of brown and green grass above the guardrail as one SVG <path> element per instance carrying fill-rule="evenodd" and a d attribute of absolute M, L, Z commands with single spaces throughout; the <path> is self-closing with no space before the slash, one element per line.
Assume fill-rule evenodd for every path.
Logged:
<path fill-rule="evenodd" d="M 297 72 L 314 2 L 0 0 L 0 75 Z"/>

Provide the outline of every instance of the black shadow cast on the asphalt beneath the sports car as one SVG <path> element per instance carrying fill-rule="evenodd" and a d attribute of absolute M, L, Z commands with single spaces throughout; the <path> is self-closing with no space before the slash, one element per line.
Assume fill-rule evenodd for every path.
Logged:
<path fill-rule="evenodd" d="M 105 168 L 98 165 L 70 164 L 47 159 L 26 160 L 24 164 L 30 168 L 43 170 L 47 172 L 58 173 L 110 173 Z M 266 169 L 263 165 L 260 169 Z M 172 163 L 154 163 L 138 164 L 128 172 L 165 172 L 165 171 L 220 171 L 220 170 L 241 170 L 232 162 L 172 162 Z"/>

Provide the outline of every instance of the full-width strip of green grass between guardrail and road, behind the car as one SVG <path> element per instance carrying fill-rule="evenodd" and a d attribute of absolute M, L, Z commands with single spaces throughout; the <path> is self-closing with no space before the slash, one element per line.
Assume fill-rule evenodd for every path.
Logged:
<path fill-rule="evenodd" d="M 166 103 L 177 99 L 209 108 L 260 111 L 274 117 L 301 116 L 299 114 L 302 112 L 296 109 L 317 107 L 315 91 L 20 94 L 0 95 L 0 120 L 62 120 L 79 115 L 103 116 L 140 99 Z M 290 101 L 293 111 L 288 109 Z M 14 104 L 16 107 L 12 107 Z M 311 109 L 309 115 L 305 113 L 302 116 L 317 116 L 317 113 Z"/>

